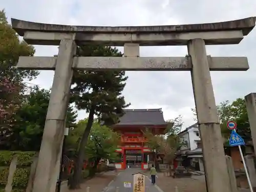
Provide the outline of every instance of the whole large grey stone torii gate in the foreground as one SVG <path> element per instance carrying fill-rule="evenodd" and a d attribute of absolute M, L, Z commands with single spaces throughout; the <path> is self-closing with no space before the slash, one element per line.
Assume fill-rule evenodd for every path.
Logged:
<path fill-rule="evenodd" d="M 93 27 L 11 19 L 28 44 L 59 46 L 57 57 L 20 57 L 17 67 L 55 70 L 33 192 L 55 190 L 73 70 L 191 71 L 209 192 L 231 192 L 210 71 L 246 71 L 246 57 L 211 57 L 205 45 L 239 44 L 255 17 L 221 23 Z M 124 46 L 124 57 L 76 57 L 77 45 Z M 139 46 L 187 46 L 185 57 L 139 57 Z"/>

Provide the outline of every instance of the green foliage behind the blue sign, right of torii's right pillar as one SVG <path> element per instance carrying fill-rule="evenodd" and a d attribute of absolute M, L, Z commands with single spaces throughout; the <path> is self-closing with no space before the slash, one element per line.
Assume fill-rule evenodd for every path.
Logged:
<path fill-rule="evenodd" d="M 191 110 L 196 117 L 196 110 Z M 221 102 L 217 105 L 217 112 L 221 124 L 222 136 L 224 138 L 228 139 L 230 136 L 230 130 L 227 129 L 227 121 L 233 120 L 237 123 L 237 133 L 241 135 L 245 141 L 251 140 L 250 125 L 244 99 L 238 98 L 232 103 L 229 101 Z"/>

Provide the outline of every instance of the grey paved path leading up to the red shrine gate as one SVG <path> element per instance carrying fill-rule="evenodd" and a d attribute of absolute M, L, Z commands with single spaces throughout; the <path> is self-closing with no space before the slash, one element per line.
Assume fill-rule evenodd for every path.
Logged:
<path fill-rule="evenodd" d="M 133 176 L 135 173 L 142 173 L 138 168 L 127 168 L 121 171 L 118 176 L 110 182 L 104 192 L 116 192 L 116 187 L 119 187 L 119 192 L 133 192 Z M 151 180 L 145 176 L 145 192 L 163 192 L 157 185 L 152 185 Z M 124 182 L 131 182 L 132 188 L 124 188 Z"/>

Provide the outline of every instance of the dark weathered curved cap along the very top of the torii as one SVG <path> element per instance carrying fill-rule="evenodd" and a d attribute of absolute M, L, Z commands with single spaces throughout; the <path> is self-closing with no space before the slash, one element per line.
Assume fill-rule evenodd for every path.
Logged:
<path fill-rule="evenodd" d="M 242 30 L 243 35 L 248 33 L 255 26 L 256 17 L 248 17 L 228 22 L 191 24 L 191 25 L 166 25 L 166 26 L 68 26 L 27 22 L 11 18 L 12 28 L 23 36 L 27 30 L 42 32 L 94 32 L 94 33 L 152 33 L 152 32 L 205 32 L 205 31 L 223 31 L 223 30 Z"/>

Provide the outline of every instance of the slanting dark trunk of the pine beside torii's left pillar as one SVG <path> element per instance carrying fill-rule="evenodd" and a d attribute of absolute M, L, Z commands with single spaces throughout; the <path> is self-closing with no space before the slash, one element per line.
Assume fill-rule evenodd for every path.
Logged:
<path fill-rule="evenodd" d="M 90 134 L 93 120 L 94 120 L 94 108 L 90 110 L 89 117 L 88 117 L 88 123 L 86 126 L 86 129 L 83 132 L 81 142 L 79 144 L 79 150 L 78 150 L 78 157 L 75 160 L 74 164 L 74 175 L 70 182 L 70 189 L 76 189 L 79 188 L 79 184 L 81 181 L 81 175 L 82 175 L 82 166 L 83 166 L 83 160 L 84 160 L 84 147 L 86 147 L 88 136 Z"/>

